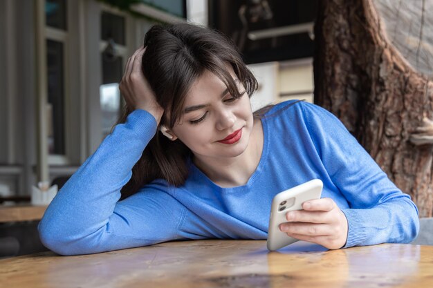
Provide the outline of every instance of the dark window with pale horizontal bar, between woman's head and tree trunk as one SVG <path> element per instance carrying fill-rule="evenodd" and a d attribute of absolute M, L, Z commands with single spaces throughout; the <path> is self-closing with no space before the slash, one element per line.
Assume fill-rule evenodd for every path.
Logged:
<path fill-rule="evenodd" d="M 209 0 L 209 26 L 237 45 L 247 64 L 313 57 L 317 0 Z"/>

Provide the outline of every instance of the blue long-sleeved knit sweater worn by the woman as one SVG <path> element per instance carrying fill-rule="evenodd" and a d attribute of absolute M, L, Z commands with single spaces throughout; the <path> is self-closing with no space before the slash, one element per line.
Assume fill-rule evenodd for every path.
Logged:
<path fill-rule="evenodd" d="M 221 188 L 189 162 L 183 186 L 158 179 L 118 201 L 156 133 L 151 114 L 133 111 L 57 193 L 39 223 L 43 244 L 74 255 L 181 239 L 264 240 L 273 196 L 313 178 L 346 215 L 345 247 L 414 239 L 415 204 L 343 124 L 319 106 L 288 104 L 261 119 L 264 148 L 247 184 Z"/>

